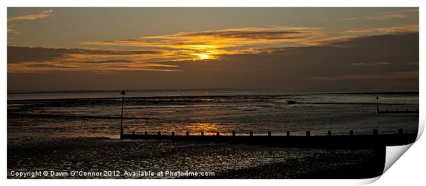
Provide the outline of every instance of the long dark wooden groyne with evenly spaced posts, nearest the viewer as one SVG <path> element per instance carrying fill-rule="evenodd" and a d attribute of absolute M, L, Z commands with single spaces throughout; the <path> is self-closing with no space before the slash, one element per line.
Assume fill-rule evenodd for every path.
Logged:
<path fill-rule="evenodd" d="M 375 147 L 375 146 L 399 146 L 411 144 L 416 140 L 416 134 L 404 134 L 403 129 L 399 129 L 396 134 L 380 134 L 377 129 L 373 130 L 372 135 L 354 135 L 353 131 L 349 131 L 349 135 L 331 135 L 328 131 L 327 135 L 311 135 L 311 131 L 306 131 L 305 135 L 253 135 L 250 131 L 249 135 L 236 135 L 233 131 L 232 135 L 190 135 L 187 131 L 186 135 L 163 135 L 160 131 L 157 134 L 148 134 L 148 132 L 139 134 L 133 131 L 131 134 L 120 134 L 121 139 L 166 139 L 176 141 L 192 141 L 192 142 L 219 142 L 229 144 L 251 144 L 251 145 L 267 145 L 267 146 L 283 146 L 283 147 L 331 147 L 331 148 L 350 148 L 350 147 Z"/>

